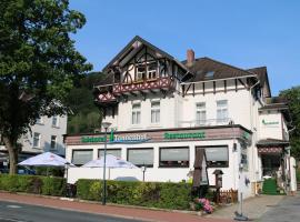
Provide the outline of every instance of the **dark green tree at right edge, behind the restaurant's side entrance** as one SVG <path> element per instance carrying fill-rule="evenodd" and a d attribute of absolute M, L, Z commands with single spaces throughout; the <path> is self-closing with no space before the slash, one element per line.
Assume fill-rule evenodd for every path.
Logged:
<path fill-rule="evenodd" d="M 288 100 L 294 129 L 290 133 L 291 154 L 300 159 L 300 87 L 293 87 L 280 92 Z"/>

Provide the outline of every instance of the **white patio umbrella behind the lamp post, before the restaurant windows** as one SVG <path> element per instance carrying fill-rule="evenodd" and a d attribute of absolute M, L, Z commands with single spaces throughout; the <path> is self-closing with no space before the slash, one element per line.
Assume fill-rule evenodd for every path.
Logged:
<path fill-rule="evenodd" d="M 114 155 L 107 154 L 106 167 L 109 169 L 109 179 L 110 179 L 110 169 L 111 168 L 127 168 L 127 169 L 137 169 L 138 167 L 131 162 L 122 160 L 120 158 L 116 158 Z M 97 160 L 91 160 L 86 164 L 81 165 L 81 168 L 104 168 L 104 158 L 101 157 Z"/>

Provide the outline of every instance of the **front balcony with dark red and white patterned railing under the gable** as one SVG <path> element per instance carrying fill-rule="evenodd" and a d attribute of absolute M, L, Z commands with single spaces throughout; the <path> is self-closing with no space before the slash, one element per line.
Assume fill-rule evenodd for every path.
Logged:
<path fill-rule="evenodd" d="M 130 94 L 134 92 L 158 92 L 160 90 L 170 90 L 174 88 L 172 77 L 162 77 L 158 79 L 143 80 L 132 83 L 118 83 L 113 85 L 112 93 L 114 95 Z"/>

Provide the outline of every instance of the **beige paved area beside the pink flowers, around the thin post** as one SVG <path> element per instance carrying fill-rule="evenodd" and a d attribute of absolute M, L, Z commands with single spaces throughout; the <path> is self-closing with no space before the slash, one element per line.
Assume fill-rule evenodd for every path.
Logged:
<path fill-rule="evenodd" d="M 243 214 L 250 220 L 257 220 L 269 210 L 269 208 L 277 205 L 284 195 L 260 195 L 249 198 L 243 202 Z M 240 212 L 239 204 L 224 206 L 207 218 L 233 219 L 234 211 Z"/>

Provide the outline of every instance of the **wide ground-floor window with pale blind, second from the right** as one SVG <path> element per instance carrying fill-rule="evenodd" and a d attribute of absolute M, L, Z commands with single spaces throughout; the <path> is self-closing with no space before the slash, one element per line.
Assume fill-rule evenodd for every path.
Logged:
<path fill-rule="evenodd" d="M 189 148 L 160 148 L 159 167 L 189 168 Z"/>

